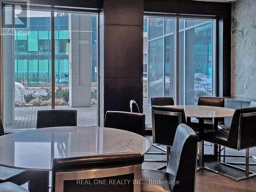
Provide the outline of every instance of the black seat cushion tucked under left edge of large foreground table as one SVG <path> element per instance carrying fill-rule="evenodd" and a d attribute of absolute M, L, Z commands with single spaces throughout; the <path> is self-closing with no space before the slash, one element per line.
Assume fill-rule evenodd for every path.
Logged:
<path fill-rule="evenodd" d="M 25 172 L 26 172 L 26 170 L 0 166 L 0 183 L 1 183 L 1 181 L 2 182 L 7 181 L 7 180 L 12 181 L 12 179 L 14 179 L 15 177 L 19 177 L 20 175 L 22 175 Z"/>

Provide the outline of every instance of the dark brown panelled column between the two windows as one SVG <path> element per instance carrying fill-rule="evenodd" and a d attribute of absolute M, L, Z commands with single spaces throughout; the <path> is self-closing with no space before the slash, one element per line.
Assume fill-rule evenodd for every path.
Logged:
<path fill-rule="evenodd" d="M 99 122 L 106 111 L 142 111 L 143 0 L 104 0 L 99 27 Z"/>

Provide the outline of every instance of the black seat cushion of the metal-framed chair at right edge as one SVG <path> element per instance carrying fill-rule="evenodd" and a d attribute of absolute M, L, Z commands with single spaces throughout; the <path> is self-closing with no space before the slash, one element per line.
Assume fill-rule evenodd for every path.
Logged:
<path fill-rule="evenodd" d="M 201 135 L 204 141 L 226 146 L 229 132 L 224 130 L 208 131 Z"/>

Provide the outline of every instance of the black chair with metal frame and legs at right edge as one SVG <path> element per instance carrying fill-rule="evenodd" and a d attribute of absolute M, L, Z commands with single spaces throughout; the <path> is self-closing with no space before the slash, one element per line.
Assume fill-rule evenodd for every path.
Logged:
<path fill-rule="evenodd" d="M 256 173 L 250 172 L 249 170 L 249 148 L 256 146 L 256 107 L 237 109 L 232 117 L 230 131 L 224 130 L 212 130 L 205 132 L 201 135 L 204 141 L 215 143 L 219 145 L 219 162 L 224 165 L 239 164 L 242 163 L 227 163 L 225 158 L 232 157 L 225 154 L 225 147 L 232 148 L 233 150 L 245 150 L 245 176 L 232 177 L 234 180 L 241 180 L 256 175 Z M 223 155 L 221 155 L 221 146 L 224 146 Z M 221 162 L 223 157 L 223 162 Z M 243 157 L 243 156 L 240 156 Z M 235 167 L 235 166 L 233 166 Z M 236 169 L 244 171 L 240 167 Z"/>

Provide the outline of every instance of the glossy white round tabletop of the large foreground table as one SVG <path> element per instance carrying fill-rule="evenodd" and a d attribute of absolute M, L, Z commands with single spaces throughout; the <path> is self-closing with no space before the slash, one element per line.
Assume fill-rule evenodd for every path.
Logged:
<path fill-rule="evenodd" d="M 55 157 L 118 152 L 144 155 L 150 142 L 135 133 L 97 126 L 50 127 L 0 137 L 0 165 L 51 170 Z"/>

